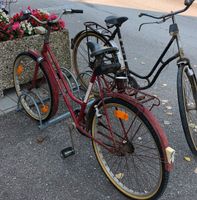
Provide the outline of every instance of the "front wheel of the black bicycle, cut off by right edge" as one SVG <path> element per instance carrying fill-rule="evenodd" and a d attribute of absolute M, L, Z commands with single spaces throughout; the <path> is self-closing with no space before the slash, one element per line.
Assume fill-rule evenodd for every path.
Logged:
<path fill-rule="evenodd" d="M 178 75 L 177 75 L 178 104 L 179 104 L 179 112 L 186 141 L 189 145 L 191 152 L 194 155 L 197 155 L 197 124 L 196 124 L 197 109 L 196 108 L 191 109 L 192 106 L 196 107 L 197 105 L 197 87 L 196 87 L 197 82 L 195 74 L 191 76 L 188 75 L 188 73 L 186 72 L 187 67 L 188 66 L 180 66 L 178 68 Z M 191 93 L 191 95 L 189 95 L 189 92 Z M 189 108 L 190 106 L 191 108 Z M 195 117 L 193 117 L 192 114 L 194 114 Z"/>

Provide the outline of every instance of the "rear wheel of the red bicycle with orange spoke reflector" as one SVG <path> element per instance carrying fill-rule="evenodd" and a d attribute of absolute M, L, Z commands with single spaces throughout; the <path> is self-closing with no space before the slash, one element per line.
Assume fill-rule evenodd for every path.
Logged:
<path fill-rule="evenodd" d="M 161 138 L 131 103 L 108 99 L 92 120 L 96 158 L 112 184 L 133 199 L 160 196 L 168 182 Z"/>

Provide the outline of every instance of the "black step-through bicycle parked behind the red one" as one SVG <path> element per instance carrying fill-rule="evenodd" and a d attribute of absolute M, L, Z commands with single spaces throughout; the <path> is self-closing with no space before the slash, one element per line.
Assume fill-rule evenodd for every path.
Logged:
<path fill-rule="evenodd" d="M 119 62 L 121 63 L 120 73 L 124 74 L 128 78 L 131 87 L 138 88 L 139 90 L 150 88 L 155 83 L 162 70 L 168 66 L 170 62 L 176 59 L 178 66 L 177 93 L 182 126 L 192 153 L 197 155 L 197 81 L 190 61 L 185 57 L 183 48 L 181 47 L 178 24 L 175 22 L 175 16 L 188 10 L 193 2 L 194 0 L 185 0 L 184 9 L 159 17 L 140 13 L 139 17 L 146 16 L 156 19 L 157 21 L 143 23 L 140 25 L 139 29 L 141 29 L 145 24 L 160 24 L 167 20 L 172 20 L 172 23 L 169 26 L 171 39 L 151 71 L 145 76 L 137 74 L 129 69 L 128 66 L 120 31 L 120 27 L 125 21 L 127 21 L 127 17 L 107 17 L 105 19 L 107 28 L 95 22 L 85 22 L 85 30 L 79 32 L 75 38 L 72 39 L 72 58 L 74 71 L 78 76 L 81 85 L 84 88 L 87 88 L 89 82 L 88 77 L 90 77 L 91 74 L 90 67 L 93 64 L 93 58 L 91 58 L 90 50 L 86 45 L 87 42 L 91 41 L 104 46 L 117 47 L 118 45 L 114 41 L 117 36 L 120 45 L 120 50 L 117 53 Z M 114 28 L 114 30 L 111 31 L 111 28 Z M 164 60 L 166 53 L 174 43 L 176 43 L 177 46 L 177 53 Z M 147 84 L 145 86 L 140 86 L 134 77 L 146 80 Z M 110 78 L 113 79 L 113 77 Z"/>

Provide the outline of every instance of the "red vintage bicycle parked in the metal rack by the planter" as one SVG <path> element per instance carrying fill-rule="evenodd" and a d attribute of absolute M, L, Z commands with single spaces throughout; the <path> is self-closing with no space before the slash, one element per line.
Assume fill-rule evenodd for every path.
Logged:
<path fill-rule="evenodd" d="M 167 185 L 172 169 L 174 150 L 152 113 L 137 98 L 121 93 L 122 83 L 117 84 L 119 92 L 112 92 L 105 75 L 116 73 L 120 64 L 114 47 L 92 47 L 95 58 L 93 73 L 85 97 L 77 98 L 72 85 L 64 76 L 49 45 L 51 26 L 63 14 L 81 13 L 81 10 L 64 10 L 52 21 L 40 21 L 31 13 L 24 19 L 32 18 L 47 29 L 39 29 L 44 35 L 41 55 L 29 50 L 20 53 L 14 62 L 14 84 L 24 110 L 36 120 L 46 121 L 58 109 L 59 93 L 73 120 L 76 129 L 92 140 L 96 158 L 111 183 L 124 195 L 132 199 L 153 199 L 160 196 Z M 112 63 L 103 58 L 114 54 Z M 68 77 L 68 76 L 67 76 Z M 87 104 L 91 90 L 98 84 L 99 97 L 89 110 Z M 125 84 L 125 83 L 124 83 Z M 125 85 L 124 85 L 125 87 Z M 134 91 L 136 96 L 137 91 Z M 33 100 L 33 102 L 32 102 Z M 72 106 L 74 101 L 79 108 Z M 35 104 L 36 103 L 36 104 Z M 39 107 L 38 113 L 36 106 Z M 72 148 L 62 151 L 64 157 Z"/>

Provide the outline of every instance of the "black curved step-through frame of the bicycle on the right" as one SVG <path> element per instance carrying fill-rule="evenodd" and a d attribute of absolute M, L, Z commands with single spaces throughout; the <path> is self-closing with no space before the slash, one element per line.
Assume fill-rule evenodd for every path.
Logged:
<path fill-rule="evenodd" d="M 115 39 L 116 35 L 118 36 L 118 41 L 119 41 L 119 45 L 120 45 L 120 51 L 119 52 L 121 52 L 121 53 L 119 53 L 118 58 L 119 58 L 119 61 L 122 65 L 121 68 L 126 70 L 127 75 L 131 74 L 134 77 L 137 77 L 139 79 L 145 79 L 148 82 L 148 84 L 146 86 L 139 87 L 138 88 L 139 90 L 144 90 L 144 89 L 150 88 L 155 83 L 155 81 L 159 77 L 162 70 L 170 62 L 172 62 L 173 60 L 175 60 L 177 58 L 179 58 L 177 65 L 179 65 L 179 62 L 184 59 L 186 61 L 186 64 L 190 66 L 189 61 L 187 61 L 188 59 L 184 58 L 184 52 L 183 52 L 183 49 L 181 47 L 178 25 L 175 23 L 175 16 L 172 16 L 171 18 L 172 18 L 172 24 L 169 27 L 169 30 L 170 30 L 169 32 L 170 32 L 170 35 L 172 35 L 172 37 L 171 37 L 170 41 L 168 42 L 168 44 L 166 45 L 163 52 L 161 53 L 161 55 L 159 56 L 155 65 L 152 67 L 150 72 L 145 76 L 142 76 L 142 75 L 140 75 L 140 74 L 129 69 L 129 65 L 128 65 L 128 61 L 127 61 L 127 57 L 126 57 L 126 52 L 125 52 L 125 49 L 124 49 L 124 44 L 123 44 L 123 40 L 122 40 L 122 36 L 121 36 L 120 27 L 116 26 L 116 28 L 113 32 L 108 31 L 107 34 L 103 34 L 103 36 L 106 39 L 106 42 L 113 47 L 117 47 L 117 44 L 115 43 L 114 39 Z M 93 28 L 91 28 L 91 25 L 92 25 L 91 23 L 94 23 L 94 22 L 87 22 L 87 23 L 84 24 L 86 26 L 86 31 L 87 31 L 87 28 L 89 28 L 90 30 L 93 30 L 93 31 L 95 31 L 99 34 L 102 34 L 102 33 L 98 32 L 96 29 L 94 30 Z M 103 30 L 106 31 L 106 28 L 104 28 L 104 27 L 102 27 L 102 26 L 100 26 L 96 23 L 95 23 L 95 25 L 99 26 L 100 28 L 103 28 Z M 163 61 L 163 58 L 165 57 L 166 53 L 168 52 L 170 47 L 173 45 L 173 43 L 176 43 L 176 45 L 177 45 L 177 49 L 178 49 L 177 53 L 174 54 L 173 56 L 169 57 L 167 60 Z M 123 60 L 124 66 L 123 66 L 121 60 Z M 155 75 L 153 76 L 154 73 L 155 73 Z M 150 81 L 149 79 L 152 76 L 153 76 L 153 78 Z"/>

